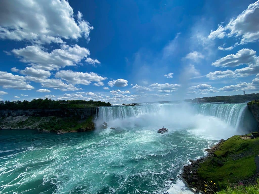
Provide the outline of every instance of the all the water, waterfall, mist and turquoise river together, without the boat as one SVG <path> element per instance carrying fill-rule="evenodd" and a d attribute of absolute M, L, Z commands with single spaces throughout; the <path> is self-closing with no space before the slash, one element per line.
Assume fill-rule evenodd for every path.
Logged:
<path fill-rule="evenodd" d="M 116 129 L 0 130 L 0 193 L 191 193 L 178 177 L 188 159 L 255 124 L 243 103 L 100 107 L 104 121 Z"/>

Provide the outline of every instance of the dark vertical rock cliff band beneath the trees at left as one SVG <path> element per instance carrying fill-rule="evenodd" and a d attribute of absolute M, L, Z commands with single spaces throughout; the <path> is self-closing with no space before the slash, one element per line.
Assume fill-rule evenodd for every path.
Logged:
<path fill-rule="evenodd" d="M 73 117 L 81 116 L 86 119 L 90 116 L 95 117 L 96 107 L 88 108 L 68 108 L 68 109 L 31 109 L 31 110 L 0 110 L 0 117 L 9 116 L 37 116 L 37 117 Z"/>

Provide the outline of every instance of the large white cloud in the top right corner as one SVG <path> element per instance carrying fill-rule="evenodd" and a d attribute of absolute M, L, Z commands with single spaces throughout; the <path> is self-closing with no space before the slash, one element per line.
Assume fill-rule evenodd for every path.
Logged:
<path fill-rule="evenodd" d="M 239 44 L 257 41 L 259 39 L 259 23 L 257 18 L 259 18 L 259 1 L 250 4 L 236 18 L 232 18 L 225 27 L 220 24 L 217 30 L 211 31 L 208 38 L 222 39 L 225 36 L 241 37 Z"/>

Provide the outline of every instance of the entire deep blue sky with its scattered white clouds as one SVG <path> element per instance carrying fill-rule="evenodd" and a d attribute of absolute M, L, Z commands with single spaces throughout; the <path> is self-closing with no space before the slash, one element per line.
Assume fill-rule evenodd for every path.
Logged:
<path fill-rule="evenodd" d="M 258 93 L 259 1 L 2 1 L 0 99 Z"/>

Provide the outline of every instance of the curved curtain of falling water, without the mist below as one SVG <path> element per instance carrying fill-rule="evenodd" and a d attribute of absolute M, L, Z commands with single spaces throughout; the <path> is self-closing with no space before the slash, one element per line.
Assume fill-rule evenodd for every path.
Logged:
<path fill-rule="evenodd" d="M 186 116 L 186 113 L 189 115 Z M 110 106 L 99 107 L 96 122 L 109 122 L 112 120 L 125 120 L 143 115 L 163 115 L 169 119 L 177 118 L 179 115 L 190 117 L 190 115 L 204 115 L 217 117 L 227 125 L 238 130 L 240 128 L 247 131 L 256 126 L 256 121 L 246 103 L 175 103 L 175 104 L 155 104 L 139 106 Z"/>

